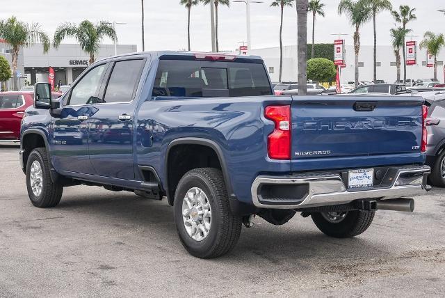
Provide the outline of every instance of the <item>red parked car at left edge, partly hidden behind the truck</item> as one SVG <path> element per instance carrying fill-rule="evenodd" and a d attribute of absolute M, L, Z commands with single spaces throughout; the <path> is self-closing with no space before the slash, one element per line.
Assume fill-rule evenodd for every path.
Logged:
<path fill-rule="evenodd" d="M 53 93 L 55 100 L 61 94 Z M 20 140 L 20 122 L 26 108 L 33 105 L 33 92 L 10 91 L 0 93 L 0 141 Z"/>

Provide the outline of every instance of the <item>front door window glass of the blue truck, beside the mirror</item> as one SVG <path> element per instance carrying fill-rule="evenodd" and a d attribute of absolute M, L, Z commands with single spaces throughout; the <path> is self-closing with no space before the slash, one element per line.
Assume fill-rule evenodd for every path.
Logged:
<path fill-rule="evenodd" d="M 99 65 L 90 70 L 82 79 L 74 86 L 71 91 L 70 100 L 67 105 L 87 104 L 97 102 L 97 93 L 99 92 L 101 78 L 106 70 L 106 64 Z"/>

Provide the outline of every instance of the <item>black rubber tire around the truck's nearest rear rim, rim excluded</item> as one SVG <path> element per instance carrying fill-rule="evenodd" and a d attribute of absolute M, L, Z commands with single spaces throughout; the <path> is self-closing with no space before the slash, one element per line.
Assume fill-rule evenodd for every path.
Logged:
<path fill-rule="evenodd" d="M 204 240 L 188 235 L 182 217 L 182 204 L 187 191 L 199 187 L 211 207 L 211 226 Z M 241 233 L 242 219 L 232 214 L 223 173 L 216 168 L 195 168 L 179 181 L 175 192 L 175 224 L 184 248 L 197 258 L 217 258 L 234 248 Z"/>

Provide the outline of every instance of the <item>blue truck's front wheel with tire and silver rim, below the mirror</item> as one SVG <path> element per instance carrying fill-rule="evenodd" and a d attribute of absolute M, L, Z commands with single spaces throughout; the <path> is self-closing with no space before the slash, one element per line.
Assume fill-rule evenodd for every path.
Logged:
<path fill-rule="evenodd" d="M 26 188 L 35 207 L 54 207 L 62 198 L 63 187 L 51 180 L 47 150 L 34 149 L 26 163 Z"/>

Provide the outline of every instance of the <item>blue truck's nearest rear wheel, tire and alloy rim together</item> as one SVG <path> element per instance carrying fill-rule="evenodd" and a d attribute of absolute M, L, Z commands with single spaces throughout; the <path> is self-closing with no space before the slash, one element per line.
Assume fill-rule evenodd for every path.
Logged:
<path fill-rule="evenodd" d="M 232 214 L 223 173 L 195 168 L 175 192 L 175 224 L 185 249 L 197 258 L 216 258 L 234 248 L 241 217 Z"/>

